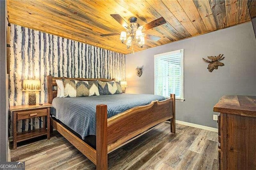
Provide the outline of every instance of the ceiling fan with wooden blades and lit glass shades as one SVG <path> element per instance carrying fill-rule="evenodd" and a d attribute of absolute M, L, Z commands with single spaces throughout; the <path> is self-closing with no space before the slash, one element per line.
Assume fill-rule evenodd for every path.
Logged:
<path fill-rule="evenodd" d="M 101 34 L 100 36 L 105 37 L 120 35 L 120 40 L 122 43 L 124 43 L 126 40 L 127 49 L 130 48 L 132 42 L 134 41 L 137 43 L 138 47 L 142 48 L 145 44 L 145 38 L 154 41 L 160 40 L 160 37 L 158 36 L 144 34 L 142 32 L 166 23 L 166 20 L 161 17 L 145 24 L 144 26 L 140 26 L 140 24 L 137 23 L 136 17 L 129 18 L 130 23 L 128 24 L 119 14 L 110 14 L 110 16 L 112 16 L 119 24 L 121 24 L 126 29 L 126 31 L 122 31 L 121 33 Z M 127 39 L 126 35 L 128 36 Z"/>

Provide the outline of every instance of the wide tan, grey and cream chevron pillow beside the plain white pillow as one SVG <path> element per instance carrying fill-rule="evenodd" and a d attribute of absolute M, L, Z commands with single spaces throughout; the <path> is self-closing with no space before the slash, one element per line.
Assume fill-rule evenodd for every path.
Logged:
<path fill-rule="evenodd" d="M 64 79 L 65 97 L 99 96 L 98 81 L 78 81 Z"/>

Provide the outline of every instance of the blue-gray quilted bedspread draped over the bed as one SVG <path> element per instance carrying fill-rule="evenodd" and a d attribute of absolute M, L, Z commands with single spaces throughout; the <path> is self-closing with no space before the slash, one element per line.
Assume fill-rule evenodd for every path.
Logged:
<path fill-rule="evenodd" d="M 81 135 L 96 135 L 96 105 L 108 106 L 108 118 L 151 101 L 165 100 L 159 95 L 115 94 L 90 97 L 56 97 L 52 101 L 51 114 Z"/>

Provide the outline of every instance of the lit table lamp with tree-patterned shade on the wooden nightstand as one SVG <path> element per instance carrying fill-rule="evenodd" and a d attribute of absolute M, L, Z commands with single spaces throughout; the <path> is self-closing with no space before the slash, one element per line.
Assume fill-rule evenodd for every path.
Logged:
<path fill-rule="evenodd" d="M 40 80 L 23 80 L 22 91 L 28 91 L 28 105 L 36 105 L 35 91 L 41 91 Z"/>

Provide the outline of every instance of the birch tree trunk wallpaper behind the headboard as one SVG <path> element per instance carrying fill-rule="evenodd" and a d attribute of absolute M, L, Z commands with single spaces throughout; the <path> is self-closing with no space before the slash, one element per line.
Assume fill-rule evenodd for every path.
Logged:
<path fill-rule="evenodd" d="M 124 80 L 125 55 L 61 38 L 22 26 L 11 25 L 9 103 L 27 105 L 28 93 L 22 92 L 25 79 L 39 79 L 41 91 L 36 102 L 47 102 L 46 76 L 115 78 Z M 9 116 L 12 136 L 12 114 Z M 19 121 L 18 132 L 42 127 L 42 118 Z"/>

